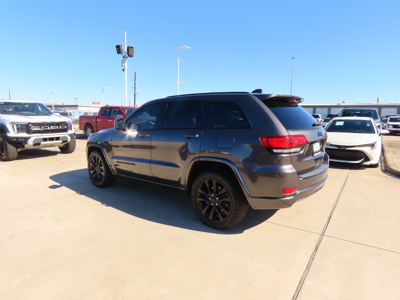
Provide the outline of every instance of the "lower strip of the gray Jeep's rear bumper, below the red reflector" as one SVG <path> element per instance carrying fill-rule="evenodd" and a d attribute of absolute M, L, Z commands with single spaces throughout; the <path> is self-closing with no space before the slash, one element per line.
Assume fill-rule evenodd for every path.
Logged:
<path fill-rule="evenodd" d="M 258 197 L 246 197 L 250 206 L 253 209 L 280 209 L 280 208 L 288 208 L 292 206 L 298 200 L 304 199 L 320 188 L 322 188 L 326 182 L 328 175 L 320 180 L 319 182 L 313 184 L 312 186 L 308 186 L 303 188 L 302 190 L 297 190 L 293 195 L 285 198 L 258 198 Z"/>

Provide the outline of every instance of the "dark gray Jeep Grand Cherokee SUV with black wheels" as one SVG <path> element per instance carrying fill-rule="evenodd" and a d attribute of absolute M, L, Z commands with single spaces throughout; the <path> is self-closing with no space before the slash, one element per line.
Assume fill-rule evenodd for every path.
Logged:
<path fill-rule="evenodd" d="M 328 171 L 326 132 L 297 96 L 202 93 L 150 101 L 91 134 L 88 173 L 98 187 L 130 177 L 191 194 L 206 225 L 229 228 L 254 209 L 313 194 Z"/>

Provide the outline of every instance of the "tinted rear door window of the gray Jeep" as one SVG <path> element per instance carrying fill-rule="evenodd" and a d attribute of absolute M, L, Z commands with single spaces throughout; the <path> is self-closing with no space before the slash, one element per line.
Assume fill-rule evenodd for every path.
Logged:
<path fill-rule="evenodd" d="M 198 120 L 197 101 L 170 102 L 164 117 L 163 129 L 195 128 Z"/>

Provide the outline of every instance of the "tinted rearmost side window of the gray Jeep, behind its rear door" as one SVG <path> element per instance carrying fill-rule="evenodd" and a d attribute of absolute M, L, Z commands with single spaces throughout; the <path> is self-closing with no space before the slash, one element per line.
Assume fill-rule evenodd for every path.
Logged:
<path fill-rule="evenodd" d="M 230 101 L 202 102 L 204 128 L 246 128 L 249 122 L 240 108 Z"/>

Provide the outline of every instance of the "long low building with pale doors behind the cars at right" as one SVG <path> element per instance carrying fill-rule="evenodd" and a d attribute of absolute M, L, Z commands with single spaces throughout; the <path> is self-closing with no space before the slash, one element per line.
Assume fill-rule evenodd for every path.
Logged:
<path fill-rule="evenodd" d="M 300 104 L 310 114 L 321 114 L 326 116 L 327 114 L 338 114 L 343 108 L 375 108 L 378 111 L 379 116 L 386 116 L 387 114 L 400 114 L 400 102 L 390 103 L 346 103 L 345 101 L 324 104 L 324 103 L 302 103 Z"/>

